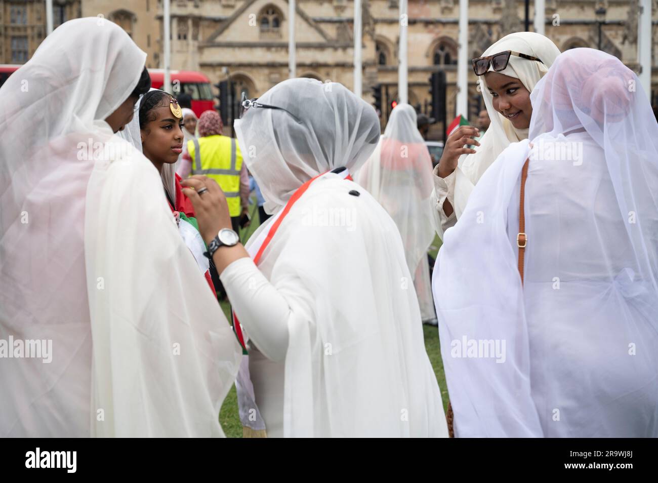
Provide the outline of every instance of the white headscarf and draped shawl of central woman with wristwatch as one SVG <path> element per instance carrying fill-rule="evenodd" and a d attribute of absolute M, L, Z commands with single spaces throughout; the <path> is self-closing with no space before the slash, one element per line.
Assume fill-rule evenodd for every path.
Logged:
<path fill-rule="evenodd" d="M 258 101 L 286 109 L 251 108 L 236 121 L 274 211 L 318 174 L 357 170 L 379 138 L 372 107 L 340 84 L 286 80 Z M 402 241 L 367 191 L 336 174 L 311 184 L 258 267 L 291 311 L 285 436 L 447 436 Z M 248 333 L 254 321 L 236 313 Z"/>

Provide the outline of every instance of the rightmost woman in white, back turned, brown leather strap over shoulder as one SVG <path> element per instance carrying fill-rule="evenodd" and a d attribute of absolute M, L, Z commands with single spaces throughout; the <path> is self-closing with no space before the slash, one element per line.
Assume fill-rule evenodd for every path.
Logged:
<path fill-rule="evenodd" d="M 593 49 L 561 54 L 532 107 L 532 141 L 482 176 L 434 268 L 455 432 L 656 437 L 658 124 Z"/>

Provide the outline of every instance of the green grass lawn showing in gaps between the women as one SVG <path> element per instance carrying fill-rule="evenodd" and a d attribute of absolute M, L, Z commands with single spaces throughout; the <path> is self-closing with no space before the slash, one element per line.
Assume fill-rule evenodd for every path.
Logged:
<path fill-rule="evenodd" d="M 245 234 L 241 234 L 243 243 L 245 243 L 249 236 L 258 228 L 258 213 L 252 218 L 252 223 L 249 228 L 245 230 Z M 436 253 L 441 246 L 441 240 L 438 236 L 434 238 L 432 246 L 430 247 L 430 255 L 436 258 Z M 226 318 L 230 318 L 230 305 L 228 301 L 220 302 L 222 310 L 226 314 Z M 432 368 L 434 369 L 434 374 L 436 374 L 436 380 L 439 383 L 439 388 L 441 390 L 441 397 L 443 399 L 443 410 L 447 408 L 448 403 L 448 394 L 447 387 L 445 386 L 445 375 L 443 374 L 443 362 L 441 360 L 441 347 L 439 345 L 439 331 L 438 328 L 424 325 L 422 326 L 423 335 L 425 338 L 425 350 L 427 355 L 430 358 L 430 363 L 432 363 Z M 224 399 L 222 404 L 222 409 L 219 412 L 219 422 L 224 429 L 224 433 L 227 438 L 241 438 L 242 437 L 242 425 L 240 424 L 240 417 L 238 417 L 238 397 L 236 396 L 236 386 L 233 386 Z"/>

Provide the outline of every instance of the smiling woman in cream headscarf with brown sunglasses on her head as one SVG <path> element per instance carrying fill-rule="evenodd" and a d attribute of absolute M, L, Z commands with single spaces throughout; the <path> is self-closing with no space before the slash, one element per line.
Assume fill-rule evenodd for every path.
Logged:
<path fill-rule="evenodd" d="M 442 159 L 434 168 L 434 191 L 430 203 L 434 228 L 441 238 L 443 232 L 461 217 L 473 187 L 503 149 L 509 143 L 528 138 L 532 114 L 530 92 L 560 53 L 555 44 L 541 34 L 517 32 L 501 38 L 482 56 L 504 51 L 536 57 L 541 62 L 510 55 L 504 70 L 493 72 L 493 64 L 489 64 L 488 75 L 478 77 L 491 124 L 479 142 L 474 140 L 478 135 L 474 127 L 457 128 L 448 137 Z M 514 80 L 517 80 L 515 84 L 506 85 Z M 510 118 L 508 114 L 516 115 Z M 475 145 L 476 149 L 469 149 L 468 144 Z"/>

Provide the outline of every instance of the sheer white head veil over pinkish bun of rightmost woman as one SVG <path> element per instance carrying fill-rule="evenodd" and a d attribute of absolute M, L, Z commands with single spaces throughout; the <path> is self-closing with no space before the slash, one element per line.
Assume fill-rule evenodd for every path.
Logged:
<path fill-rule="evenodd" d="M 619 212 L 633 218 L 624 229 L 634 270 L 658 287 L 658 125 L 647 97 L 634 72 L 607 53 L 571 49 L 556 62 L 531 95 L 530 138 L 581 131 L 601 149 Z"/>

